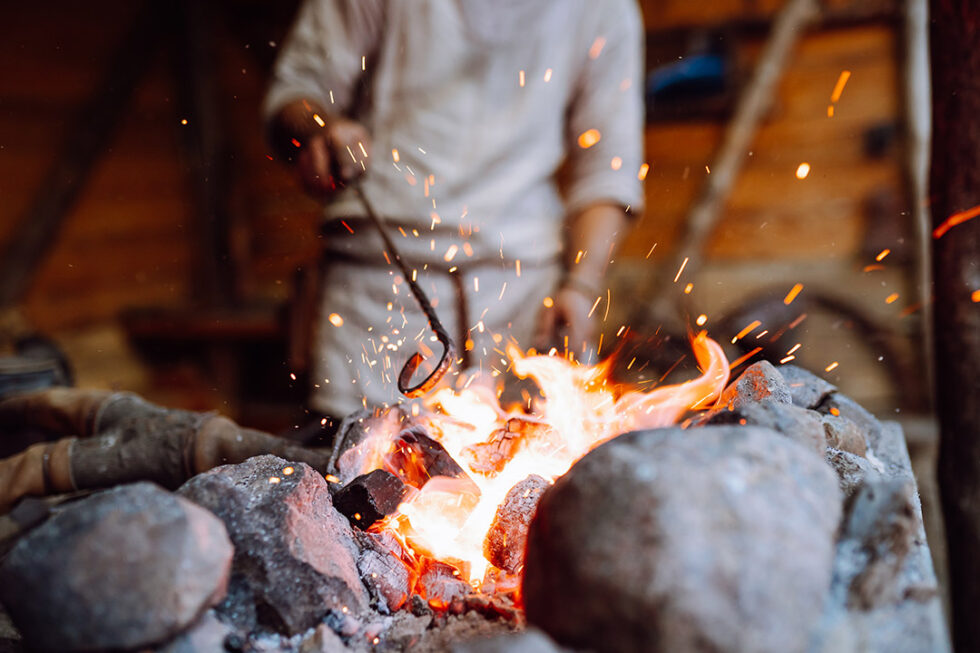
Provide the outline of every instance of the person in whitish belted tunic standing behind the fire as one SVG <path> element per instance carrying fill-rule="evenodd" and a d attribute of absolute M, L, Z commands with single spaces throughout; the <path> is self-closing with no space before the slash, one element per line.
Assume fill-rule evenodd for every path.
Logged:
<path fill-rule="evenodd" d="M 510 341 L 588 358 L 643 199 L 642 37 L 635 0 L 304 2 L 265 113 L 325 204 L 313 409 L 393 404 L 405 359 L 441 352 L 350 183 L 461 364 L 502 369 Z"/>

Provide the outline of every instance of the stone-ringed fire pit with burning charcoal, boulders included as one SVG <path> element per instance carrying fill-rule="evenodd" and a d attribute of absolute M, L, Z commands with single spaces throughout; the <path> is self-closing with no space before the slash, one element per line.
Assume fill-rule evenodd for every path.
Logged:
<path fill-rule="evenodd" d="M 95 495 L 20 540 L 0 600 L 65 651 L 947 650 L 900 430 L 798 368 L 726 388 L 692 346 L 653 389 L 511 350 L 533 390 L 352 415 L 325 476 L 266 455 Z"/>

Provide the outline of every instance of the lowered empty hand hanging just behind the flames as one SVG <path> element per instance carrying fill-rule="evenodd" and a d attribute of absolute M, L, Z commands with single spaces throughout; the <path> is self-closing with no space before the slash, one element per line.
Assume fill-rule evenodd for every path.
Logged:
<path fill-rule="evenodd" d="M 568 351 L 582 359 L 584 353 L 595 343 L 596 322 L 590 313 L 598 298 L 598 290 L 596 289 L 595 296 L 590 296 L 590 291 L 584 284 L 564 285 L 559 288 L 552 298 L 552 305 L 545 306 L 538 315 L 535 347 L 539 351 L 556 347 L 563 352 L 567 337 Z"/>

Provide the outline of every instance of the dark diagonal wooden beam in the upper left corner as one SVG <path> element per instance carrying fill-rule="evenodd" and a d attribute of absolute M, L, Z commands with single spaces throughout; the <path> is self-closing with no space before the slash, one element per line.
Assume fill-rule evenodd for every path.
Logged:
<path fill-rule="evenodd" d="M 78 112 L 61 153 L 0 254 L 0 307 L 21 301 L 62 220 L 71 211 L 147 69 L 161 34 L 162 3 L 149 0 L 112 55 L 106 74 Z"/>

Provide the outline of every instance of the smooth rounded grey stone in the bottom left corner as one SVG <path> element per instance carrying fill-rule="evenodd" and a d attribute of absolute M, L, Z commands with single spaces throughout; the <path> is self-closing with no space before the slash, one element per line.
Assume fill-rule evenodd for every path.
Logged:
<path fill-rule="evenodd" d="M 232 546 L 208 511 L 152 483 L 100 492 L 18 542 L 0 600 L 50 651 L 165 642 L 225 592 Z"/>

